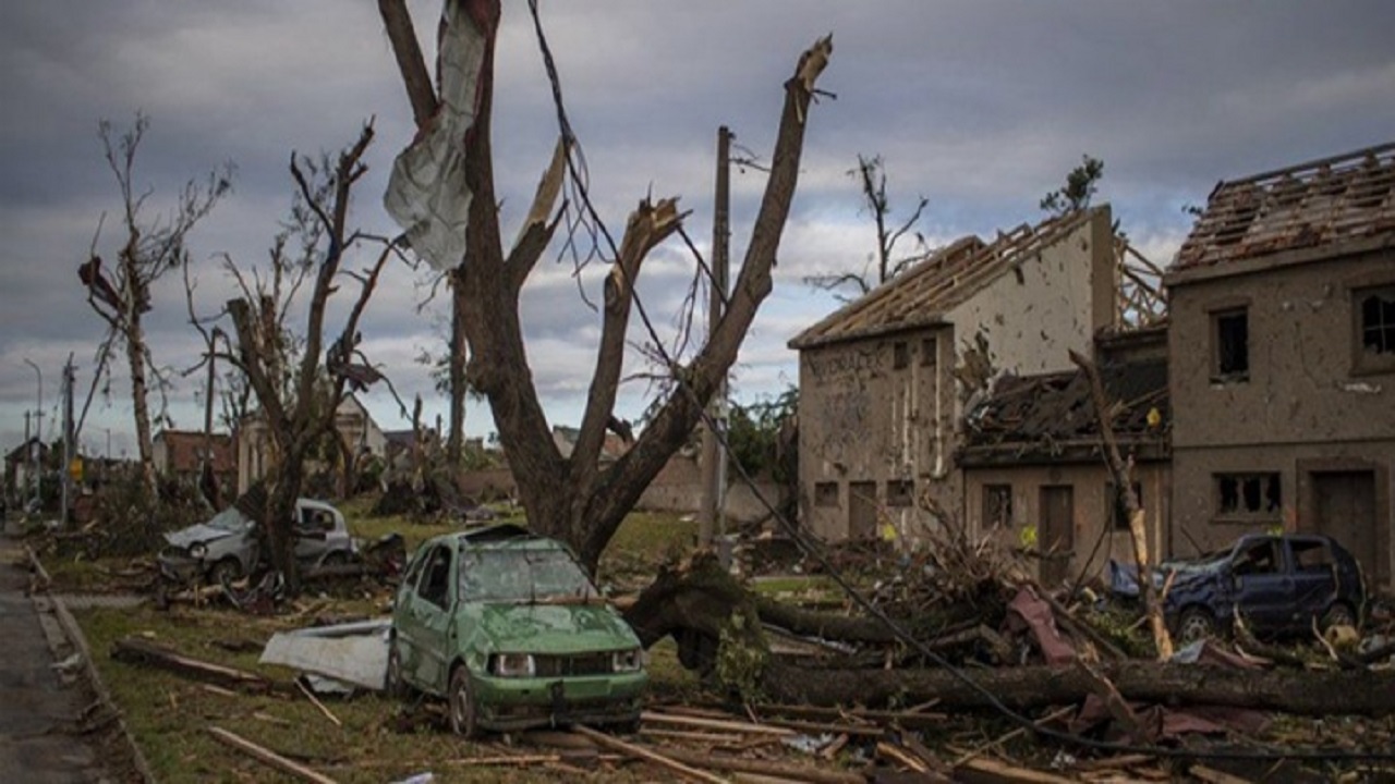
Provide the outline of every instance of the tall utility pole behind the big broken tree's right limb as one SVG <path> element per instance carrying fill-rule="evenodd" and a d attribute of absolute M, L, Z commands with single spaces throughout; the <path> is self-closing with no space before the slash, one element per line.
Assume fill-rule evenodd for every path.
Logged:
<path fill-rule="evenodd" d="M 727 239 L 730 236 L 727 213 L 731 202 L 731 131 L 727 126 L 717 128 L 717 193 L 711 216 L 711 297 L 707 304 L 707 338 L 717 331 L 727 304 Z M 698 509 L 699 544 L 711 544 L 714 537 L 725 533 L 723 506 L 725 501 L 727 451 L 717 442 L 717 430 L 727 430 L 727 382 L 707 403 L 707 425 L 702 434 L 702 505 Z"/>

